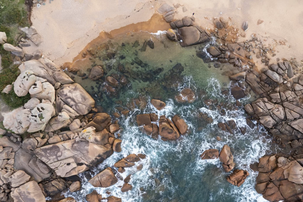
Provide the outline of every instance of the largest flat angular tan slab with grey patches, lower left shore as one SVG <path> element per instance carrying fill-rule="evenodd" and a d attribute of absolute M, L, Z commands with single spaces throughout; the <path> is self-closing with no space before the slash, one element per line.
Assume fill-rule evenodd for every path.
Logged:
<path fill-rule="evenodd" d="M 88 141 L 67 140 L 42 146 L 36 156 L 61 177 L 69 177 L 101 163 L 112 154 L 112 147 Z"/>

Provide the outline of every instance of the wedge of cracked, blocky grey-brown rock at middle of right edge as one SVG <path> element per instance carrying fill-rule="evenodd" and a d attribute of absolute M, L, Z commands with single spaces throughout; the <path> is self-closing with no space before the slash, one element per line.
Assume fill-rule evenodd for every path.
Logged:
<path fill-rule="evenodd" d="M 301 147 L 303 138 L 303 77 L 298 76 L 277 86 L 262 98 L 244 106 L 246 112 L 269 129 L 279 143 L 291 141 L 293 148 Z"/>

